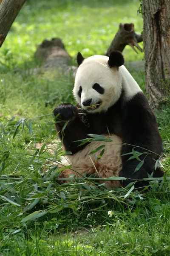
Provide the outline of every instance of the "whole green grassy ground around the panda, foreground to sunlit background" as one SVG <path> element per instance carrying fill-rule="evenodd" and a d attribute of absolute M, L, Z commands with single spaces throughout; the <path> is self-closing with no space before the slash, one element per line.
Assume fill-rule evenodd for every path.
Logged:
<path fill-rule="evenodd" d="M 62 38 L 73 56 L 106 52 L 120 22 L 135 23 L 138 0 L 28 0 L 1 49 L 0 58 L 0 254 L 21 256 L 169 256 L 170 182 L 150 182 L 150 192 L 106 189 L 89 180 L 59 186 L 47 161 L 63 154 L 45 150 L 57 138 L 51 111 L 74 103 L 72 78 L 33 76 L 16 67 L 37 65 L 36 45 Z M 142 60 L 130 47 L 127 61 Z M 144 89 L 144 74 L 132 75 Z M 45 106 L 45 102 L 56 102 Z M 164 141 L 163 168 L 170 175 L 170 102 L 156 113 Z M 50 143 L 50 144 L 48 144 Z M 111 211 L 111 213 L 110 213 Z M 108 212 L 110 214 L 108 214 Z"/>

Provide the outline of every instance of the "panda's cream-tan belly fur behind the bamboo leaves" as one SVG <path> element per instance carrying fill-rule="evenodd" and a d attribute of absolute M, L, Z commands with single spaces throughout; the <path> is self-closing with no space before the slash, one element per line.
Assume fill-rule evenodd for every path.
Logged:
<path fill-rule="evenodd" d="M 105 134 L 102 134 L 105 136 Z M 74 174 L 77 177 L 82 177 L 85 172 L 88 171 L 88 176 L 108 178 L 113 176 L 119 176 L 119 172 L 122 169 L 121 148 L 122 140 L 116 135 L 109 137 L 112 142 L 94 141 L 88 144 L 81 151 L 73 155 L 67 155 L 65 160 L 62 161 L 64 166 L 71 165 L 71 169 L 76 170 L 74 172 L 71 169 L 67 169 L 62 172 L 59 177 L 68 177 L 68 175 Z M 99 160 L 96 160 L 94 155 L 89 153 L 99 146 L 105 145 L 105 152 Z M 102 150 L 95 153 L 98 157 Z M 95 167 L 94 167 L 95 166 Z M 63 167 L 63 166 L 60 166 Z M 81 175 L 82 174 L 82 175 Z M 108 188 L 116 188 L 121 184 L 119 181 L 100 181 L 99 183 L 105 183 Z"/>

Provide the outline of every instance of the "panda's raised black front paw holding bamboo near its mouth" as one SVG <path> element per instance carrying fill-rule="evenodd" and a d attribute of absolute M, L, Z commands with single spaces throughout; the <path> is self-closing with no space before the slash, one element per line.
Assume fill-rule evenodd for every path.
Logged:
<path fill-rule="evenodd" d="M 54 116 L 57 116 L 57 119 L 62 121 L 68 121 L 70 119 L 74 119 L 77 115 L 77 107 L 70 103 L 63 103 L 54 108 Z"/>

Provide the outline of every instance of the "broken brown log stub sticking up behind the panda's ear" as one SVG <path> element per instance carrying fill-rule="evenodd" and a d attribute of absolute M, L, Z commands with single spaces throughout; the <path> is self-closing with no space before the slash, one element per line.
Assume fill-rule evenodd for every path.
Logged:
<path fill-rule="evenodd" d="M 137 51 L 134 46 L 142 52 L 142 48 L 138 45 L 138 43 L 142 41 L 142 35 L 137 35 L 135 33 L 133 23 L 120 23 L 119 30 L 113 38 L 113 41 L 106 52 L 106 56 L 109 56 L 113 50 L 122 52 L 127 44 L 130 45 L 136 53 Z"/>

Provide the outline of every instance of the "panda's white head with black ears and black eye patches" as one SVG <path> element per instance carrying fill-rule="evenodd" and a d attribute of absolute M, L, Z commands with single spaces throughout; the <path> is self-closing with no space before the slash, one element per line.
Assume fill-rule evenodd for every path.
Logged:
<path fill-rule="evenodd" d="M 122 53 L 113 51 L 109 57 L 94 55 L 85 59 L 78 52 L 77 64 L 73 89 L 75 99 L 90 113 L 107 111 L 122 93 L 119 72 L 119 67 L 124 64 Z"/>

